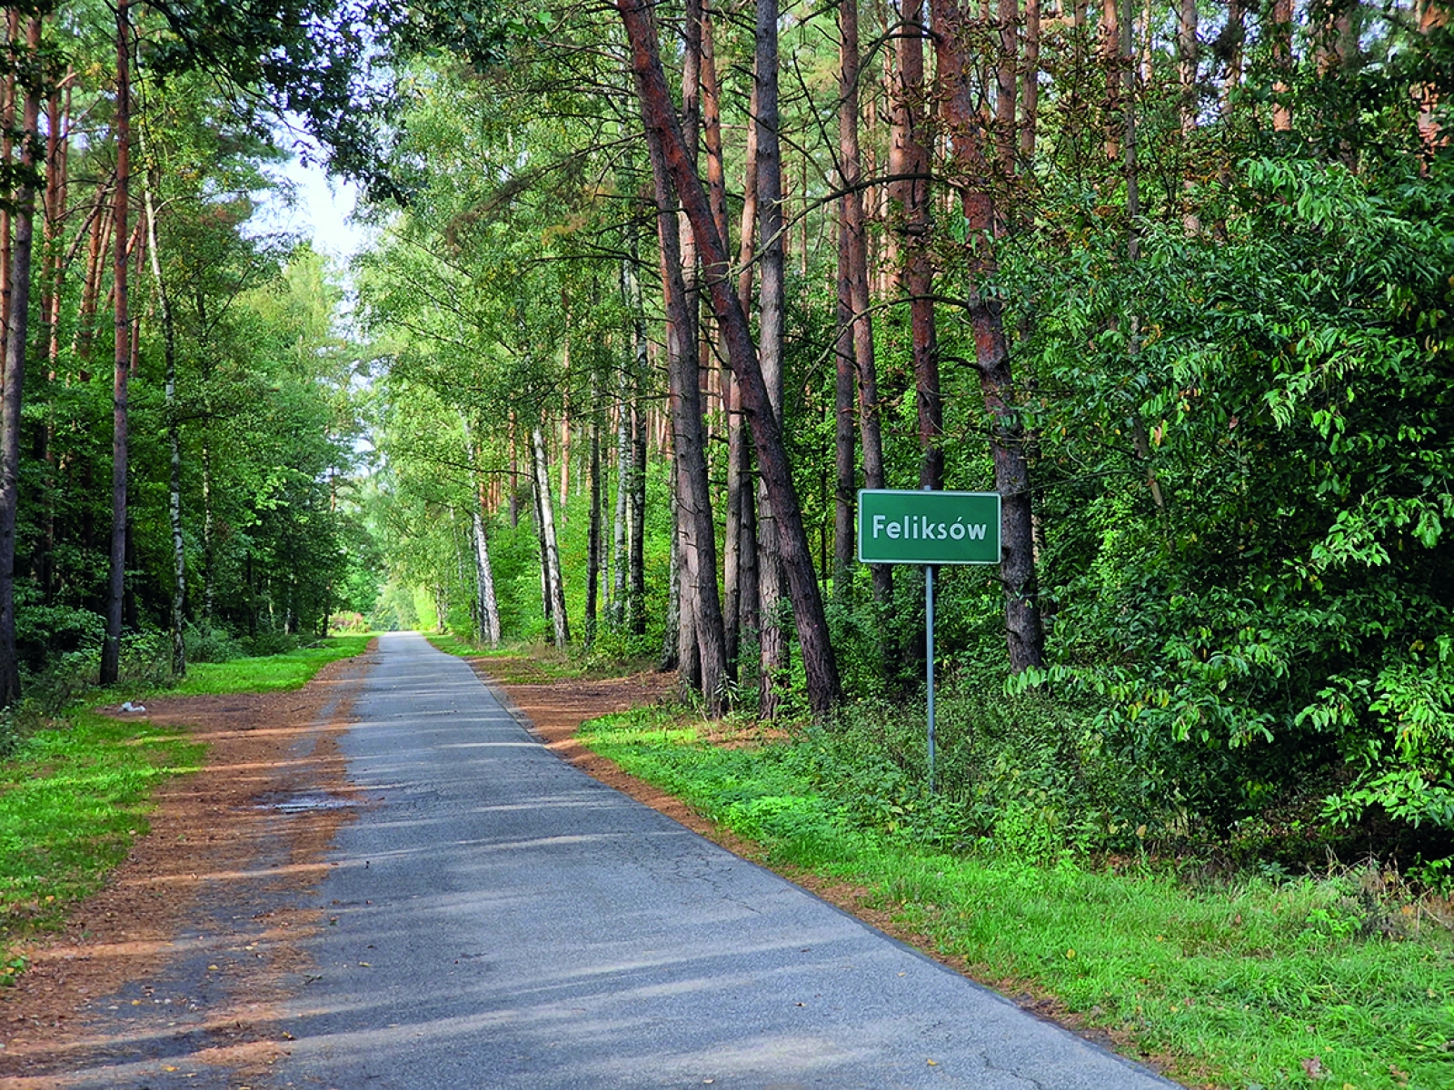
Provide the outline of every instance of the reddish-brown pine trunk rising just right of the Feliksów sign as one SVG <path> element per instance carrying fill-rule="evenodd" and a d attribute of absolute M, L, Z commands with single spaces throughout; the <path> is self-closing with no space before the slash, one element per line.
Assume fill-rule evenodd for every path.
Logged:
<path fill-rule="evenodd" d="M 995 202 L 989 186 L 986 132 L 974 109 L 970 57 L 965 51 L 964 15 L 958 0 L 933 0 L 945 128 L 961 179 L 960 206 L 967 225 L 968 298 L 965 310 L 974 333 L 974 362 L 980 394 L 990 419 L 990 455 L 995 488 L 1000 494 L 1000 581 L 1005 587 L 1005 622 L 1011 669 L 1016 673 L 1044 663 L 1044 632 L 1035 589 L 1034 510 L 1025 426 L 1015 407 L 1009 346 L 1002 304 L 981 285 L 995 275 L 990 231 Z"/>

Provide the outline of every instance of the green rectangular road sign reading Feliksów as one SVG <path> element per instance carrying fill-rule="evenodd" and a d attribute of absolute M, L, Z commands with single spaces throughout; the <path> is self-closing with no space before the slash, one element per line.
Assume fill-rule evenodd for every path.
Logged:
<path fill-rule="evenodd" d="M 858 493 L 864 564 L 999 564 L 999 493 Z"/>

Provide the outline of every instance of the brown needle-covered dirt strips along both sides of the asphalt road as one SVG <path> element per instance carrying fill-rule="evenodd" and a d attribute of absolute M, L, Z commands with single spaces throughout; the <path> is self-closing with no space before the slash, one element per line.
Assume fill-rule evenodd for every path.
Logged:
<path fill-rule="evenodd" d="M 365 654 L 333 663 L 295 692 L 147 702 L 153 724 L 206 744 L 205 766 L 157 792 L 150 831 L 137 837 L 106 887 L 80 904 L 61 933 L 23 950 L 29 969 L 0 990 L 0 1090 L 90 1086 L 77 1073 L 109 1070 L 135 1055 L 215 1065 L 228 1073 L 228 1084 L 241 1075 L 237 1086 L 247 1086 L 249 1073 L 263 1081 L 268 1067 L 286 1055 L 284 982 L 307 972 L 304 939 L 327 926 L 326 908 L 298 905 L 327 872 L 336 831 L 364 802 L 353 798 L 339 737 L 371 661 Z M 563 760 L 760 860 L 752 841 L 576 738 L 587 719 L 672 701 L 675 674 L 548 677 L 523 657 L 470 661 Z M 760 741 L 759 728 L 744 730 L 752 737 L 714 740 Z M 275 805 L 300 796 L 339 804 L 301 812 Z M 787 876 L 932 953 L 925 936 L 868 904 L 867 889 L 791 871 Z M 1044 997 L 1016 998 L 1041 1016 L 1063 1017 Z"/>

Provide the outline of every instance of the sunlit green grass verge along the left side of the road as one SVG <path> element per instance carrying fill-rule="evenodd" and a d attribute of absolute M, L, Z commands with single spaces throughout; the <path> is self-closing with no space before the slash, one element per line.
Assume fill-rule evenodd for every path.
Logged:
<path fill-rule="evenodd" d="M 228 663 L 199 663 L 158 696 L 298 689 L 326 664 L 361 654 L 371 637 Z M 17 940 L 58 927 L 102 887 L 148 830 L 153 789 L 201 767 L 205 746 L 145 719 L 80 708 L 33 731 L 0 760 L 0 987 L 25 965 Z"/>

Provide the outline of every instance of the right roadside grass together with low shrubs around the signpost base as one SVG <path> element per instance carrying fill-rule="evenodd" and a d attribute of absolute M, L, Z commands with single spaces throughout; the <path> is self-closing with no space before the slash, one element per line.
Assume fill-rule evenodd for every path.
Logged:
<path fill-rule="evenodd" d="M 1124 853 L 1070 850 L 1067 785 L 1037 767 L 1056 732 L 1021 731 L 1021 764 L 1016 740 L 971 737 L 963 715 L 989 708 L 945 703 L 947 763 L 984 773 L 970 820 L 961 799 L 928 798 L 904 767 L 922 747 L 906 716 L 887 716 L 887 734 L 875 716 L 721 747 L 707 724 L 638 709 L 582 737 L 760 843 L 769 863 L 867 887 L 871 904 L 980 980 L 1048 994 L 1189 1083 L 1454 1084 L 1454 905 L 1415 898 L 1374 860 L 1339 866 L 1326 853 L 1312 868 L 1230 865 L 1159 853 L 1134 825 Z"/>

